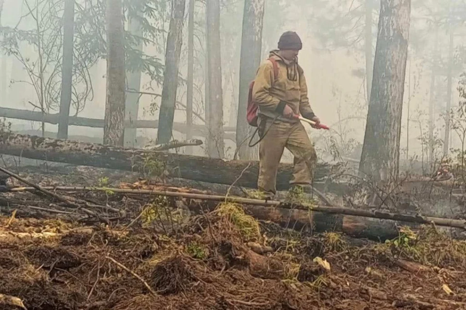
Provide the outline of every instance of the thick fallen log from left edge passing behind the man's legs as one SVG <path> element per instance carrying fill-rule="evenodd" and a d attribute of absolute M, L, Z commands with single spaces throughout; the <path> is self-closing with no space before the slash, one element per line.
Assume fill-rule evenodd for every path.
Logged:
<path fill-rule="evenodd" d="M 236 186 L 250 188 L 257 186 L 259 170 L 257 161 L 228 161 L 11 133 L 0 134 L 0 154 L 126 171 L 147 172 L 150 166 L 151 169 L 155 167 L 165 170 L 168 177 L 226 185 L 234 183 Z M 292 170 L 292 164 L 280 165 L 277 176 L 278 190 L 289 188 Z M 329 165 L 317 165 L 316 180 L 329 174 Z"/>

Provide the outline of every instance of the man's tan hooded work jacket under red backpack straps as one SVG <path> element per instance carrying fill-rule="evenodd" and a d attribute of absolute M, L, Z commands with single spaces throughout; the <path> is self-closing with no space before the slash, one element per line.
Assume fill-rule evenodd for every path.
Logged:
<path fill-rule="evenodd" d="M 254 80 L 252 100 L 259 106 L 259 114 L 285 122 L 298 122 L 282 116 L 284 105 L 293 109 L 295 114 L 305 118 L 312 118 L 314 112 L 307 96 L 306 78 L 296 61 L 287 61 L 278 55 L 278 51 L 271 51 L 278 65 L 278 77 L 274 81 L 273 64 L 266 60 L 263 62 Z"/>

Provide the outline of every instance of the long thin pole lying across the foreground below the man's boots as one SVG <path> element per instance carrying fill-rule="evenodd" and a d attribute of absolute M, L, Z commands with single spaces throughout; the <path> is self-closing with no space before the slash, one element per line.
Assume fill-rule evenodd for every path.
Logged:
<path fill-rule="evenodd" d="M 258 206 L 267 206 L 267 207 L 277 207 L 283 209 L 296 209 L 296 210 L 305 210 L 305 211 L 314 211 L 320 213 L 328 214 L 340 214 L 348 215 L 355 217 L 369 217 L 369 218 L 378 218 L 378 219 L 388 219 L 394 221 L 402 221 L 409 223 L 418 223 L 418 224 L 435 224 L 437 226 L 444 227 L 455 227 L 466 230 L 466 220 L 460 219 L 451 219 L 451 218 L 440 218 L 440 217 L 423 217 L 423 216 L 413 216 L 399 213 L 389 213 L 381 211 L 371 211 L 364 209 L 349 209 L 349 208 L 340 208 L 340 207 L 324 207 L 324 206 L 304 206 L 299 204 L 289 204 L 284 202 L 277 201 L 264 201 L 257 199 L 249 199 L 243 197 L 226 197 L 219 195 L 208 195 L 208 194 L 194 194 L 194 193 L 184 193 L 184 192 L 171 192 L 171 191 L 160 191 L 160 190 L 145 190 L 145 189 L 123 189 L 123 188 L 98 188 L 98 187 L 85 187 L 85 186 L 58 186 L 52 187 L 54 190 L 62 191 L 112 191 L 115 193 L 121 194 L 138 194 L 138 195 L 155 195 L 155 196 L 167 196 L 175 198 L 186 198 L 186 199 L 196 199 L 204 201 L 215 201 L 215 202 L 236 202 L 241 204 L 250 204 Z M 12 188 L 11 191 L 25 191 L 32 190 L 33 188 Z"/>

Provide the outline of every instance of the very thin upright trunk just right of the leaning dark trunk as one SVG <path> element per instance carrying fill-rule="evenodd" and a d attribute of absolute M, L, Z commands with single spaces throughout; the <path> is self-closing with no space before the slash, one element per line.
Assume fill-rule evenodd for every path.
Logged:
<path fill-rule="evenodd" d="M 193 129 L 193 90 L 194 90 L 194 5 L 195 0 L 189 0 L 188 24 L 188 89 L 186 93 L 186 140 L 192 139 Z M 192 147 L 186 148 L 187 154 L 192 154 Z"/>

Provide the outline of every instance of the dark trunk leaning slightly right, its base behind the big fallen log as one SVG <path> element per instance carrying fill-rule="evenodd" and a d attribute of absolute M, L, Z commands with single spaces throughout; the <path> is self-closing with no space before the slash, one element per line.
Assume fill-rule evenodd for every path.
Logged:
<path fill-rule="evenodd" d="M 171 1 L 170 28 L 166 38 L 164 86 L 159 113 L 157 144 L 171 140 L 175 116 L 176 90 L 178 86 L 178 65 L 183 44 L 183 19 L 186 0 Z"/>

